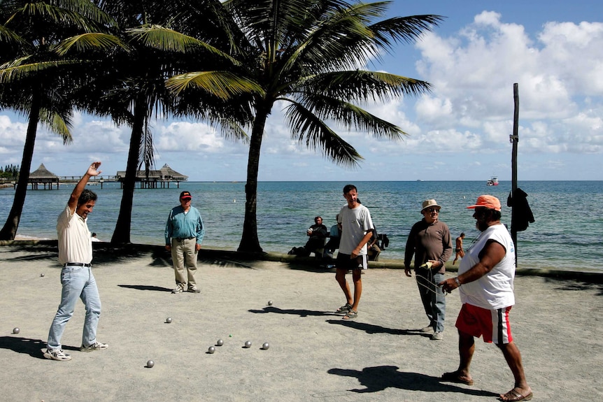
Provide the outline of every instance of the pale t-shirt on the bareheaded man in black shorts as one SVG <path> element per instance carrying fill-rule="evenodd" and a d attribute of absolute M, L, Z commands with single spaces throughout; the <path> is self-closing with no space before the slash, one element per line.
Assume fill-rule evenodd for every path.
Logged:
<path fill-rule="evenodd" d="M 358 247 L 369 229 L 373 229 L 373 221 L 369 208 L 358 205 L 356 208 L 350 209 L 346 204 L 339 211 L 339 220 L 341 223 L 341 241 L 339 243 L 339 252 L 343 254 L 352 254 L 353 250 Z M 362 246 L 360 255 L 367 254 L 367 245 Z"/>

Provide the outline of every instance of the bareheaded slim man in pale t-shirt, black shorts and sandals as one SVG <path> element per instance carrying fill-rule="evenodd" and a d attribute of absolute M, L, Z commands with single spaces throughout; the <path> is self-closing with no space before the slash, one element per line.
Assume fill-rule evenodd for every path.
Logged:
<path fill-rule="evenodd" d="M 337 218 L 337 223 L 341 224 L 341 241 L 335 263 L 335 279 L 346 296 L 346 304 L 338 308 L 336 313 L 343 314 L 343 320 L 353 320 L 358 315 L 358 303 L 362 295 L 360 273 L 369 267 L 367 243 L 375 230 L 369 208 L 358 202 L 357 195 L 355 185 L 343 187 L 343 196 L 348 203 L 341 208 Z M 353 295 L 346 280 L 346 273 L 350 270 L 354 282 Z"/>

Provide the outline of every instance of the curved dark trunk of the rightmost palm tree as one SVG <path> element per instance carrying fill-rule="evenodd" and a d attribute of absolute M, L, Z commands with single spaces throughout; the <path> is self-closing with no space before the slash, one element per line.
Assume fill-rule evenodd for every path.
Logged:
<path fill-rule="evenodd" d="M 243 221 L 243 235 L 237 251 L 262 252 L 260 239 L 257 238 L 257 173 L 260 169 L 260 149 L 264 126 L 270 108 L 258 108 L 255 115 L 251 141 L 249 144 L 249 157 L 247 162 L 247 182 L 245 185 L 245 220 Z"/>

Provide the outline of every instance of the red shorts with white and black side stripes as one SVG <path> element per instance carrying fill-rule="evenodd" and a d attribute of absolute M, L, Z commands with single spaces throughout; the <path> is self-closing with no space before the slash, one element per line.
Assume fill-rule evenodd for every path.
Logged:
<path fill-rule="evenodd" d="M 464 303 L 456 320 L 459 331 L 479 338 L 484 342 L 504 345 L 513 342 L 511 324 L 509 324 L 511 306 L 488 310 Z"/>

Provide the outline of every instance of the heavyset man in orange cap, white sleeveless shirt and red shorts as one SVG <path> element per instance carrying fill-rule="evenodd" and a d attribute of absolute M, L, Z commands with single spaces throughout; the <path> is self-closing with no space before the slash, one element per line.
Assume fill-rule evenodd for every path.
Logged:
<path fill-rule="evenodd" d="M 532 389 L 527 385 L 521 354 L 513 343 L 509 311 L 515 304 L 515 246 L 509 231 L 500 222 L 500 201 L 495 196 L 479 196 L 473 217 L 481 234 L 460 262 L 458 276 L 439 282 L 444 292 L 458 288 L 462 308 L 457 318 L 460 363 L 456 371 L 444 373 L 442 381 L 473 385 L 469 374 L 475 351 L 475 337 L 495 343 L 504 355 L 515 378 L 515 386 L 501 401 L 529 401 Z"/>

